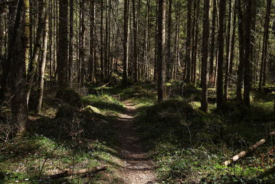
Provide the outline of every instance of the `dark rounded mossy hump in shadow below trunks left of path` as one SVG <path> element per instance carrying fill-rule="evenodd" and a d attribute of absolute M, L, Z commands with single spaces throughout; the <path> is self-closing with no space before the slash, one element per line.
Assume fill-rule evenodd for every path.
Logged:
<path fill-rule="evenodd" d="M 81 105 L 80 95 L 73 89 L 58 90 L 56 93 L 56 99 L 61 99 L 63 103 L 68 103 L 69 105 Z"/>

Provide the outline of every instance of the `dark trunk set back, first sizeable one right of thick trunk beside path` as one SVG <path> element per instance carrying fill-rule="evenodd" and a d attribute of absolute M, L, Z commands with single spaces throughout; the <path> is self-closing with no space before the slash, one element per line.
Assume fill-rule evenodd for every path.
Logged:
<path fill-rule="evenodd" d="M 186 83 L 191 83 L 191 23 L 192 23 L 192 0 L 187 0 L 187 35 L 186 35 Z"/>

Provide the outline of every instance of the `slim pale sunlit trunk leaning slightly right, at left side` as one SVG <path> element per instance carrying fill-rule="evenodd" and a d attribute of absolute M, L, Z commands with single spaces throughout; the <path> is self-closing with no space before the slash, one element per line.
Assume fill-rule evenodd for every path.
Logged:
<path fill-rule="evenodd" d="M 38 96 L 38 102 L 36 105 L 36 114 L 41 114 L 41 106 L 43 101 L 43 92 L 44 92 L 44 76 L 45 76 L 45 65 L 46 65 L 46 59 L 47 59 L 47 38 L 48 38 L 48 32 L 49 32 L 49 9 L 48 9 L 48 0 L 45 0 L 45 23 L 44 23 L 44 34 L 43 34 L 43 47 L 42 47 L 42 57 L 41 61 L 39 63 L 39 88 L 37 90 L 39 96 Z"/>

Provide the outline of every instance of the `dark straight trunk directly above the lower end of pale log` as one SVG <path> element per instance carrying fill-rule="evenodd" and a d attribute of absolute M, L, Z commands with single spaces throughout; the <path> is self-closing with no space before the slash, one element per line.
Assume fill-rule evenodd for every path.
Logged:
<path fill-rule="evenodd" d="M 217 109 L 220 110 L 223 105 L 223 51 L 224 51 L 224 23 L 225 23 L 226 0 L 219 3 L 219 56 L 218 56 L 218 74 L 217 74 Z"/>

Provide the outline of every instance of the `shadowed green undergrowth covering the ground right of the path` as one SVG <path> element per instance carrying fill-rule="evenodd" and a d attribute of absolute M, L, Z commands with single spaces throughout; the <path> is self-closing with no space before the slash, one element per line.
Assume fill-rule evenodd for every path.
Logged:
<path fill-rule="evenodd" d="M 216 112 L 215 103 L 210 103 L 204 114 L 199 110 L 199 90 L 190 88 L 184 99 L 171 95 L 174 99 L 140 108 L 141 141 L 157 163 L 162 183 L 274 182 L 274 177 L 257 178 L 274 164 L 273 154 L 268 154 L 274 150 L 272 142 L 231 167 L 221 165 L 274 130 L 274 123 L 269 123 L 274 119 L 274 97 L 255 95 L 252 108 L 242 111 L 230 92 L 223 111 Z"/>

